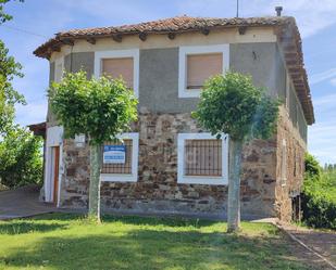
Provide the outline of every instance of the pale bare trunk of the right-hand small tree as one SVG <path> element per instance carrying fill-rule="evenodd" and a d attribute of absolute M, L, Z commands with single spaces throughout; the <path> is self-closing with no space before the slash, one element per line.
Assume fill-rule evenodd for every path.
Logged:
<path fill-rule="evenodd" d="M 231 140 L 228 160 L 227 232 L 240 226 L 240 168 L 242 141 Z"/>

